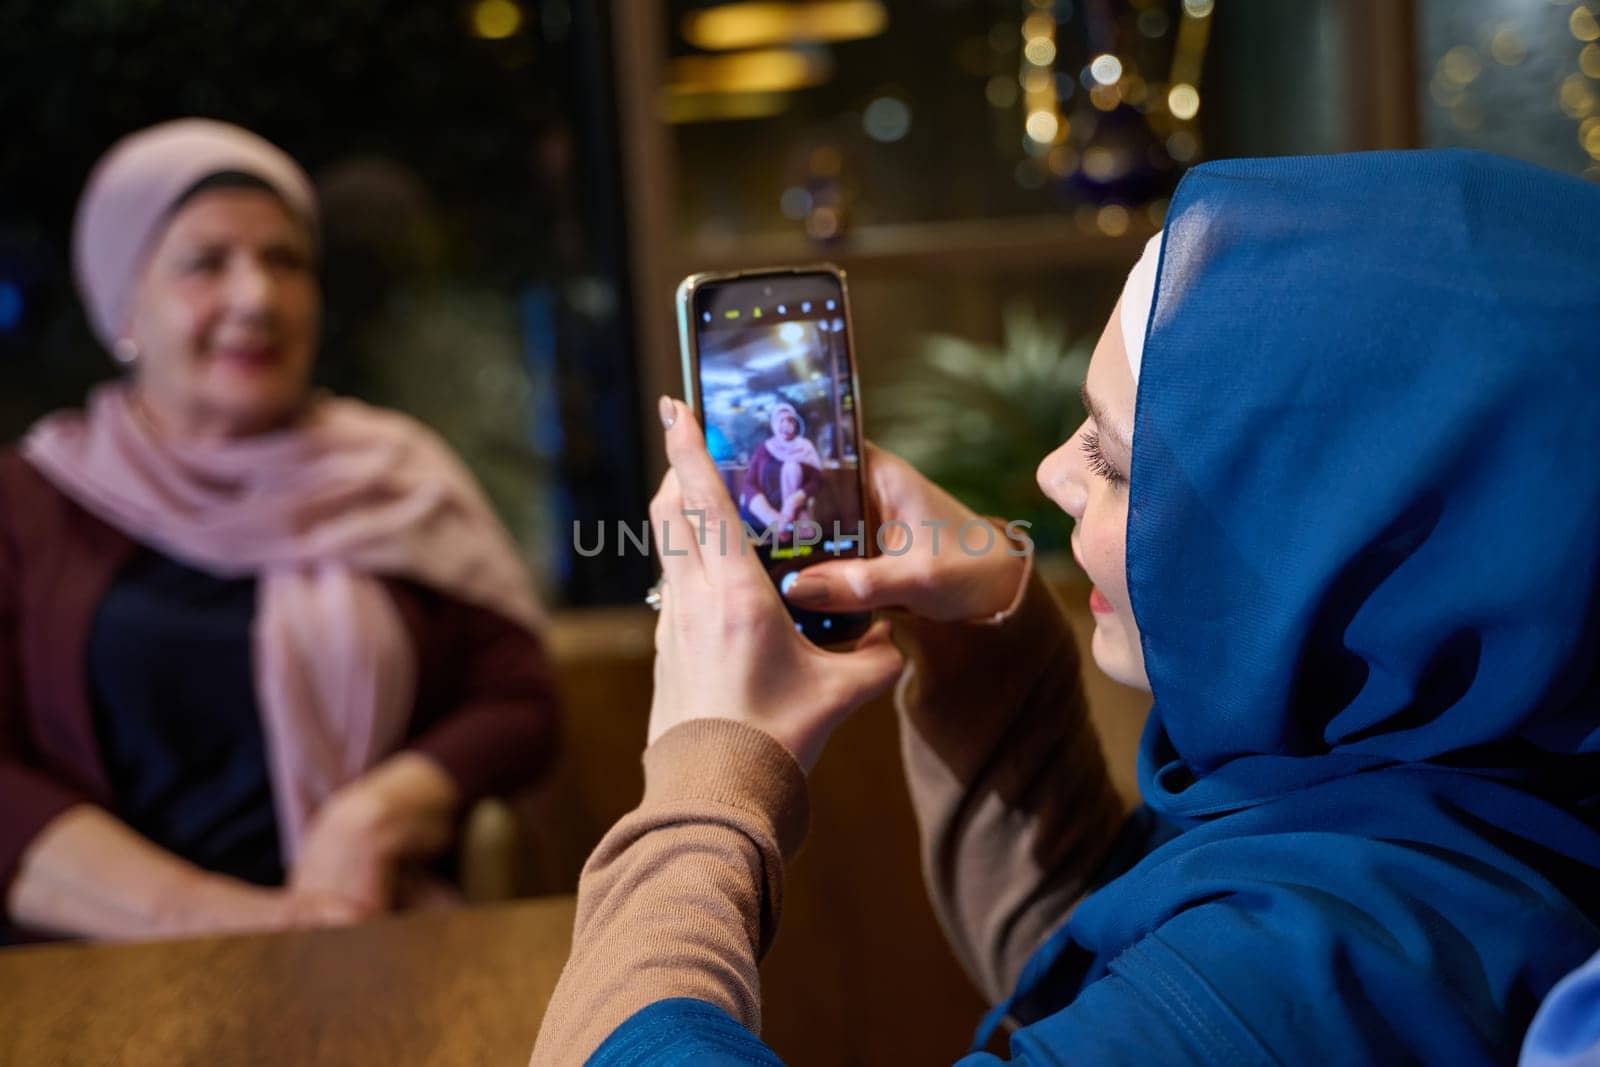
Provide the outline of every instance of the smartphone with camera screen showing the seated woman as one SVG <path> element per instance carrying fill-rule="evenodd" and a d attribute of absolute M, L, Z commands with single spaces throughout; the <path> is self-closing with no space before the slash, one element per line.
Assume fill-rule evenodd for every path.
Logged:
<path fill-rule="evenodd" d="M 779 590 L 824 560 L 872 555 L 845 272 L 690 275 L 678 285 L 678 344 L 685 400 L 746 526 L 726 550 L 757 553 Z M 794 605 L 789 614 L 818 645 L 854 640 L 872 622 Z"/>

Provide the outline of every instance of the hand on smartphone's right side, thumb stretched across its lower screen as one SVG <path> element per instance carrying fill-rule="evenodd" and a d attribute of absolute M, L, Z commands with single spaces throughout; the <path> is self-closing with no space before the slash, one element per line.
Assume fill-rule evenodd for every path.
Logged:
<path fill-rule="evenodd" d="M 883 553 L 806 568 L 789 587 L 790 603 L 811 611 L 906 608 L 946 622 L 1011 606 L 1027 573 L 1021 547 L 893 453 L 867 445 L 867 474 Z"/>

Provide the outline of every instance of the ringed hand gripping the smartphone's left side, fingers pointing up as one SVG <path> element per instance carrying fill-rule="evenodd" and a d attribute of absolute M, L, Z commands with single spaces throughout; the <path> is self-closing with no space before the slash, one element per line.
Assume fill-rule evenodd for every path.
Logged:
<path fill-rule="evenodd" d="M 672 469 L 650 502 L 667 579 L 650 739 L 691 718 L 733 718 L 766 731 L 810 769 L 834 726 L 899 677 L 901 654 L 886 624 L 848 653 L 800 637 L 742 539 L 694 416 L 662 397 L 661 421 Z"/>

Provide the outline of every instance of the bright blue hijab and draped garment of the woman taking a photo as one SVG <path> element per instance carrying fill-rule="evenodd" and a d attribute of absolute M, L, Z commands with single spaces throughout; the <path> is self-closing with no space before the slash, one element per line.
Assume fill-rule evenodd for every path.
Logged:
<path fill-rule="evenodd" d="M 1600 949 L 1597 264 L 1600 187 L 1474 152 L 1184 178 L 1146 806 L 1003 1006 L 1019 1062 L 1514 1062 Z"/>

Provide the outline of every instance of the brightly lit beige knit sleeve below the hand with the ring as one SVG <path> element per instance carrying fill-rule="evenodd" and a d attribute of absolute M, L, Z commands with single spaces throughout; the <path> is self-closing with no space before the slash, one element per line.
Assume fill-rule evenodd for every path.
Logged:
<path fill-rule="evenodd" d="M 800 765 L 760 729 L 699 718 L 658 737 L 643 800 L 584 864 L 573 953 L 533 1064 L 581 1064 L 669 997 L 717 1005 L 760 1033 L 757 965 L 806 819 Z"/>

